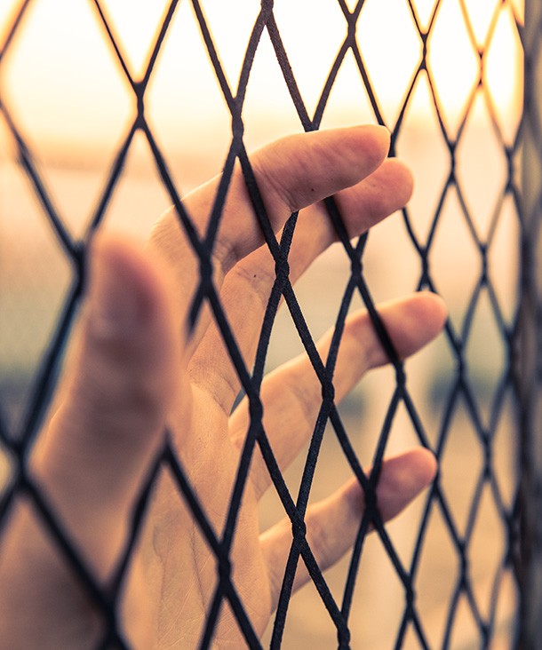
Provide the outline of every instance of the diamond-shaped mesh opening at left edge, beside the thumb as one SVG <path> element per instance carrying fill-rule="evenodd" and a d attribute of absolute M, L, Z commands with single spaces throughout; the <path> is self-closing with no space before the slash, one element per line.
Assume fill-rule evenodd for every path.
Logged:
<path fill-rule="evenodd" d="M 39 383 L 40 365 L 72 284 L 73 268 L 59 255 L 54 231 L 28 192 L 28 178 L 18 165 L 3 165 L 0 186 L 0 357 L 4 409 L 13 433 L 28 408 L 32 385 Z M 12 218 L 18 210 L 25 214 L 22 229 Z M 28 258 L 34 260 L 32 266 Z"/>

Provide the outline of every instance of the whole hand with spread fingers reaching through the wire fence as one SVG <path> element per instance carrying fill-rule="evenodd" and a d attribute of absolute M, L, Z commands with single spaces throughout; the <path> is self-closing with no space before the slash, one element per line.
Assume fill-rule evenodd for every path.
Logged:
<path fill-rule="evenodd" d="M 379 127 L 292 136 L 251 156 L 275 233 L 303 209 L 293 238 L 295 281 L 335 240 L 320 201 L 336 194 L 348 234 L 355 236 L 410 196 L 410 172 L 385 160 L 389 139 Z M 204 233 L 219 180 L 187 196 Z M 243 357 L 251 368 L 275 263 L 263 245 L 243 175 L 235 170 L 214 247 L 214 282 Z M 88 567 L 107 593 L 130 529 L 132 508 L 164 432 L 217 535 L 222 534 L 250 423 L 244 400 L 230 416 L 240 384 L 208 308 L 191 337 L 184 323 L 199 266 L 171 210 L 155 226 L 145 252 L 121 238 L 92 243 L 89 292 L 76 345 L 44 426 L 30 472 L 58 512 Z M 379 313 L 402 357 L 442 328 L 440 298 L 418 294 Z M 319 352 L 325 360 L 331 335 Z M 371 320 L 347 320 L 334 374 L 339 401 L 367 369 L 387 362 Z M 275 370 L 261 387 L 264 427 L 284 468 L 310 437 L 321 387 L 306 357 Z M 379 511 L 389 519 L 433 479 L 434 457 L 418 448 L 385 462 Z M 230 554 L 235 590 L 257 634 L 272 614 L 291 545 L 289 521 L 259 532 L 258 502 L 270 486 L 256 448 Z M 350 480 L 307 511 L 307 540 L 321 567 L 347 551 L 363 514 L 363 490 Z M 216 566 L 203 535 L 163 472 L 147 512 L 122 599 L 122 630 L 138 648 L 192 648 L 202 635 L 216 586 Z M 294 589 L 308 579 L 299 562 Z M 106 629 L 68 563 L 44 532 L 31 501 L 13 506 L 0 559 L 0 642 L 9 648 L 86 648 Z M 227 604 L 213 643 L 245 642 Z"/>

